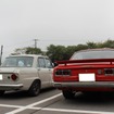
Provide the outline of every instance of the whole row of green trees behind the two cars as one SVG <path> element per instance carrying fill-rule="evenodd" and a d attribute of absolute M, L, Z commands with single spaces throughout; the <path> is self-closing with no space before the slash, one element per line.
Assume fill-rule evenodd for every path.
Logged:
<path fill-rule="evenodd" d="M 15 52 L 26 53 L 26 54 L 43 54 L 48 55 L 52 62 L 61 61 L 61 60 L 68 60 L 74 52 L 85 49 L 97 49 L 97 48 L 114 48 L 114 40 L 106 40 L 104 42 L 87 42 L 85 45 L 77 45 L 77 46 L 54 46 L 50 45 L 47 47 L 47 51 L 42 51 L 39 48 L 20 48 L 16 49 Z"/>

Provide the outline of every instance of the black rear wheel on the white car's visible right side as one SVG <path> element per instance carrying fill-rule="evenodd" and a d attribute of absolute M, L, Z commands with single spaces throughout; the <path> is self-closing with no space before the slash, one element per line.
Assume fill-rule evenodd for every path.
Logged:
<path fill-rule="evenodd" d="M 28 94 L 30 97 L 36 97 L 38 96 L 40 92 L 40 81 L 39 80 L 34 80 L 34 83 L 31 84 L 29 90 L 28 90 Z"/>

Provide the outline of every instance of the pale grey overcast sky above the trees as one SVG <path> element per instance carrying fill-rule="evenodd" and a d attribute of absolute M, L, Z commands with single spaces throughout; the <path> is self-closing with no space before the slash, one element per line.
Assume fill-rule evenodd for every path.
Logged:
<path fill-rule="evenodd" d="M 114 0 L 0 0 L 3 55 L 17 48 L 114 39 Z"/>

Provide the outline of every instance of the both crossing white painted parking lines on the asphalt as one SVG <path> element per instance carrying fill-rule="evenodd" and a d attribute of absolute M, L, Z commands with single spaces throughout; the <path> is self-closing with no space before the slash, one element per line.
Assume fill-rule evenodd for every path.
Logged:
<path fill-rule="evenodd" d="M 50 100 L 56 99 L 58 97 L 61 97 L 62 93 L 59 93 L 56 96 L 52 96 L 50 98 L 47 98 L 45 100 L 31 103 L 29 105 L 26 106 L 22 106 L 22 105 L 9 105 L 9 104 L 0 104 L 0 106 L 4 106 L 4 107 L 16 107 L 16 110 L 13 110 L 11 112 L 8 112 L 5 114 L 16 114 L 20 112 L 23 112 L 25 110 L 37 110 L 37 111 L 49 111 L 49 112 L 59 112 L 59 113 L 84 113 L 84 114 L 114 114 L 114 112 L 100 112 L 100 111 L 83 111 L 83 110 L 67 110 L 67 109 L 51 109 L 51 107 L 36 107 L 36 105 L 41 104 L 41 103 L 46 103 Z"/>

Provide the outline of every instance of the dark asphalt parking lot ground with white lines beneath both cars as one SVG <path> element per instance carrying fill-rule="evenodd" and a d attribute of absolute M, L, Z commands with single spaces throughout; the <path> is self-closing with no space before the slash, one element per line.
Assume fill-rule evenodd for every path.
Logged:
<path fill-rule="evenodd" d="M 46 89 L 38 97 L 7 92 L 0 97 L 0 114 L 114 114 L 114 93 L 81 93 L 65 100 L 60 90 Z"/>

